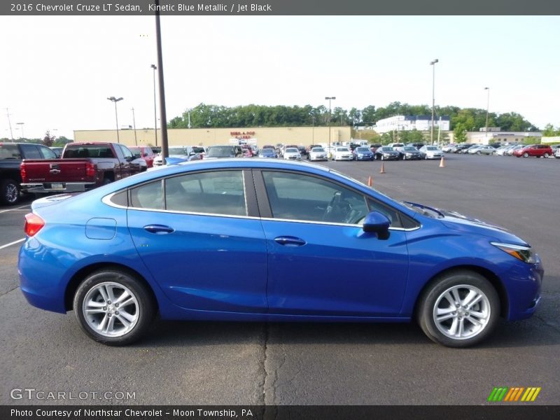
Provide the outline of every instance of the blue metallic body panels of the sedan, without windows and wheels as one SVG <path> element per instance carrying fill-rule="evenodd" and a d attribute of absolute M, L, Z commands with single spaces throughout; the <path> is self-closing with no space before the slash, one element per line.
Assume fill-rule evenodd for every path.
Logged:
<path fill-rule="evenodd" d="M 383 241 L 359 227 L 148 214 L 102 202 L 110 193 L 151 179 L 226 167 L 283 168 L 346 183 L 414 218 L 421 227 L 391 230 L 391 237 Z M 507 318 L 515 320 L 535 310 L 543 276 L 540 260 L 526 264 L 490 244 L 526 244 L 509 232 L 465 219 L 422 216 L 346 176 L 294 162 L 190 162 L 130 176 L 66 200 L 47 197 L 34 202 L 32 209 L 46 224 L 20 249 L 21 289 L 34 306 L 62 313 L 73 276 L 99 263 L 129 267 L 142 276 L 162 318 L 237 321 L 407 321 L 426 283 L 454 267 L 493 274 L 507 293 Z M 100 229 L 93 237 L 101 235 L 101 240 L 92 239 L 89 230 L 85 234 L 92 216 L 97 218 L 95 232 Z M 148 224 L 172 224 L 176 232 L 153 235 L 144 230 Z M 115 229 L 112 237 L 110 229 Z M 299 237 L 306 244 L 283 246 L 274 241 L 278 236 Z"/>

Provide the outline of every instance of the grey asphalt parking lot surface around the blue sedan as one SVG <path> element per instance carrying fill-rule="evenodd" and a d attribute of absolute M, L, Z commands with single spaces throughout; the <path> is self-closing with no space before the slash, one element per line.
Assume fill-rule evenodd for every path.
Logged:
<path fill-rule="evenodd" d="M 22 296 L 20 243 L 6 245 L 23 238 L 27 198 L 0 208 L 0 403 L 481 405 L 494 386 L 538 386 L 532 404 L 557 404 L 560 161 L 446 155 L 445 167 L 384 162 L 385 174 L 381 162 L 323 165 L 363 182 L 371 176 L 397 200 L 453 209 L 529 241 L 545 266 L 537 314 L 500 322 L 472 349 L 434 344 L 416 324 L 162 321 L 138 344 L 111 348 L 88 339 L 73 313 L 42 311 Z M 14 388 L 88 397 L 13 399 Z"/>

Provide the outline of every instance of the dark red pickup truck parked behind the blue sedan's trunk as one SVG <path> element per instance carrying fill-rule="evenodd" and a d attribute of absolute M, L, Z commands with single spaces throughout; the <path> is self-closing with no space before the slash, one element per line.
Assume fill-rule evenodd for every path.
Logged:
<path fill-rule="evenodd" d="M 27 193 L 74 193 L 145 171 L 146 161 L 118 143 L 69 143 L 61 158 L 24 159 L 21 188 Z"/>

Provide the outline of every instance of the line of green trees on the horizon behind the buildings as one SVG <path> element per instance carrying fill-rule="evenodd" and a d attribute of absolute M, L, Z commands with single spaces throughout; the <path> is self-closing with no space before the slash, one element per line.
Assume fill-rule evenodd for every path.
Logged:
<path fill-rule="evenodd" d="M 476 108 L 461 109 L 458 106 L 435 106 L 435 119 L 449 116 L 451 130 L 478 131 L 486 127 L 486 110 Z M 220 106 L 198 104 L 187 109 L 181 116 L 169 121 L 169 128 L 230 128 L 230 127 L 326 127 L 331 126 L 370 126 L 377 121 L 392 116 L 430 116 L 432 109 L 428 105 L 410 105 L 392 102 L 388 106 L 377 108 L 374 105 L 364 109 L 342 109 L 339 106 L 329 109 L 324 106 L 265 106 L 241 105 Z M 189 115 L 190 114 L 190 115 Z M 519 113 L 489 113 L 489 127 L 501 127 L 503 131 L 538 131 Z"/>

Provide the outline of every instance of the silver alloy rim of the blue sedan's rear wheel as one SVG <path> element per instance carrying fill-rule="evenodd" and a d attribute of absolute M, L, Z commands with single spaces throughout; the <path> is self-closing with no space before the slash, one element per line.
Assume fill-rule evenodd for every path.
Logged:
<path fill-rule="evenodd" d="M 122 337 L 136 326 L 140 307 L 129 288 L 106 281 L 87 292 L 82 311 L 87 325 L 97 334 Z"/>

